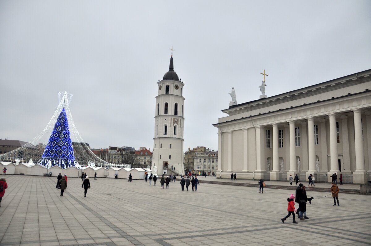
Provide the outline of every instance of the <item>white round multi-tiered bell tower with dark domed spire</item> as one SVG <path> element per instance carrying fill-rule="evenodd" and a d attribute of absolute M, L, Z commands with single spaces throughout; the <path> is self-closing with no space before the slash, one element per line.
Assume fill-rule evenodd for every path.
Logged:
<path fill-rule="evenodd" d="M 157 84 L 151 170 L 153 171 L 156 166 L 157 175 L 161 177 L 161 174 L 168 173 L 167 169 L 173 166 L 175 173 L 184 175 L 184 84 L 174 72 L 173 54 L 170 58 L 169 71 Z"/>

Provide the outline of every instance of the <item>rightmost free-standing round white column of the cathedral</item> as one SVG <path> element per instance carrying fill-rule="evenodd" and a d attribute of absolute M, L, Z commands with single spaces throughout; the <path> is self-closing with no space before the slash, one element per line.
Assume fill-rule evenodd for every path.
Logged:
<path fill-rule="evenodd" d="M 354 137 L 355 137 L 355 172 L 366 172 L 365 156 L 363 150 L 361 110 L 356 109 L 354 112 Z"/>

